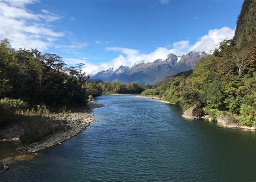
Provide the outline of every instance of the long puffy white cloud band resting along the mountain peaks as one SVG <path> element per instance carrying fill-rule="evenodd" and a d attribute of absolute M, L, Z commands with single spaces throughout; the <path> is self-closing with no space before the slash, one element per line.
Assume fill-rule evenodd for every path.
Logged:
<path fill-rule="evenodd" d="M 114 51 L 121 53 L 118 57 L 114 58 L 110 62 L 93 64 L 86 61 L 85 71 L 90 74 L 96 74 L 99 71 L 109 68 L 117 69 L 119 66 L 133 66 L 141 62 L 153 62 L 156 59 L 166 59 L 170 53 L 176 55 L 183 55 L 189 51 L 203 52 L 208 51 L 215 45 L 219 44 L 225 39 L 231 39 L 234 36 L 234 30 L 223 27 L 221 29 L 214 29 L 208 31 L 208 34 L 198 39 L 195 44 L 190 43 L 190 40 L 181 40 L 173 43 L 172 48 L 158 47 L 156 50 L 144 54 L 139 50 L 124 47 L 106 47 L 106 51 Z"/>

